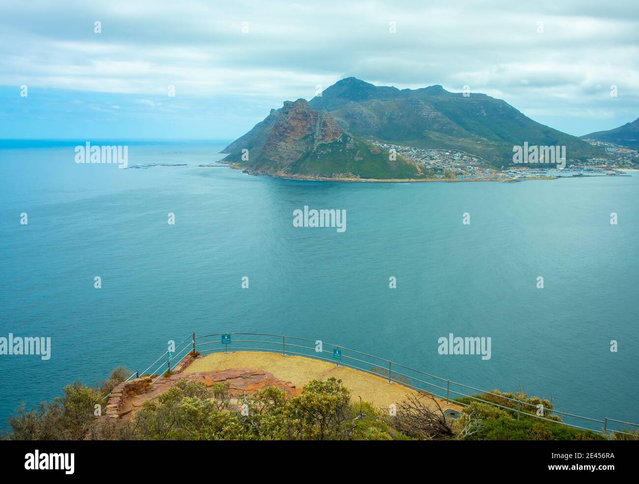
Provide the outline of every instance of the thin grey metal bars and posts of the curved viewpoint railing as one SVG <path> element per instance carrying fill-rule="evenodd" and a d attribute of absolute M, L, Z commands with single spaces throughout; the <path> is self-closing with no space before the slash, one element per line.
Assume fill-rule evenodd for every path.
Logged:
<path fill-rule="evenodd" d="M 452 393 L 454 395 L 459 395 L 461 397 L 471 398 L 472 400 L 477 400 L 479 402 L 484 402 L 486 404 L 493 405 L 495 407 L 500 407 L 500 408 L 505 409 L 505 410 L 510 411 L 510 412 L 517 412 L 518 413 L 518 418 L 519 418 L 519 415 L 523 412 L 526 416 L 529 416 L 529 417 L 539 418 L 541 420 L 546 420 L 546 421 L 550 421 L 550 422 L 553 422 L 553 423 L 559 423 L 559 424 L 562 424 L 562 425 L 566 425 L 567 427 L 573 427 L 573 428 L 579 428 L 581 430 L 590 430 L 591 432 L 593 432 L 593 431 L 597 432 L 597 430 L 594 430 L 592 428 L 580 427 L 578 425 L 573 425 L 571 423 L 567 423 L 567 422 L 564 422 L 564 421 L 551 420 L 549 418 L 545 418 L 544 416 L 540 416 L 540 415 L 537 415 L 535 413 L 530 413 L 530 412 L 526 412 L 526 411 L 521 410 L 521 405 L 528 405 L 530 407 L 537 407 L 537 405 L 535 405 L 535 404 L 530 404 L 528 402 L 522 402 L 521 400 L 518 400 L 516 398 L 505 397 L 504 395 L 499 395 L 497 393 L 492 393 L 491 391 L 484 391 L 484 390 L 479 389 L 479 388 L 475 388 L 475 387 L 472 387 L 472 386 L 464 385 L 464 384 L 461 384 L 461 383 L 458 383 L 458 382 L 455 382 L 455 381 L 451 381 L 449 379 L 444 379 L 444 378 L 438 377 L 436 375 L 431 375 L 429 373 L 422 372 L 421 370 L 417 370 L 415 368 L 406 367 L 406 365 L 401 365 L 401 363 L 397 363 L 396 361 L 392 361 L 390 359 L 381 358 L 380 356 L 374 356 L 372 354 L 368 354 L 368 353 L 364 353 L 364 352 L 357 351 L 357 350 L 354 350 L 354 349 L 350 349 L 350 348 L 344 347 L 342 345 L 328 344 L 328 343 L 325 343 L 325 342 L 322 341 L 322 345 L 323 346 L 339 348 L 339 349 L 341 349 L 342 351 L 345 351 L 345 352 L 353 352 L 353 353 L 356 353 L 358 355 L 362 355 L 362 356 L 365 356 L 365 357 L 368 357 L 368 358 L 374 358 L 374 359 L 377 359 L 379 361 L 383 361 L 384 363 L 387 363 L 389 365 L 389 368 L 383 368 L 383 370 L 387 371 L 388 375 L 381 375 L 379 372 L 376 372 L 376 371 L 373 371 L 373 370 L 370 370 L 370 369 L 366 369 L 366 368 L 357 367 L 357 366 L 355 366 L 355 365 L 353 365 L 351 363 L 348 363 L 348 361 L 335 360 L 335 359 L 330 359 L 330 358 L 325 358 L 323 356 L 319 356 L 319 355 L 321 355 L 323 353 L 328 353 L 328 354 L 332 353 L 331 351 L 327 351 L 327 350 L 325 350 L 323 348 L 321 349 L 321 351 L 316 351 L 316 348 L 314 346 L 313 347 L 309 347 L 309 346 L 298 345 L 298 344 L 293 344 L 293 343 L 287 343 L 286 342 L 287 338 L 289 340 L 310 342 L 312 344 L 314 344 L 316 342 L 316 340 L 311 340 L 311 339 L 308 339 L 308 338 L 289 337 L 289 336 L 286 336 L 286 335 L 275 335 L 275 334 L 272 334 L 272 333 L 229 332 L 229 333 L 211 333 L 211 334 L 202 335 L 202 336 L 196 336 L 195 333 L 192 333 L 192 335 L 189 335 L 189 337 L 187 337 L 184 340 L 182 340 L 177 346 L 180 347 L 180 345 L 183 344 L 184 342 L 186 342 L 187 340 L 190 340 L 189 341 L 189 345 L 187 345 L 183 349 L 181 349 L 181 351 L 179 353 L 175 354 L 175 356 L 173 358 L 175 358 L 176 356 L 179 356 L 180 354 L 182 354 L 186 349 L 189 349 L 191 347 L 191 345 L 192 345 L 193 351 L 196 351 L 196 348 L 198 346 L 202 347 L 204 345 L 212 345 L 212 344 L 224 345 L 224 343 L 222 343 L 221 340 L 210 340 L 210 341 L 200 342 L 200 343 L 197 342 L 198 340 L 201 340 L 202 338 L 222 337 L 222 335 L 231 335 L 231 336 L 233 336 L 233 335 L 240 336 L 241 335 L 241 336 L 249 336 L 249 337 L 251 337 L 251 336 L 259 336 L 259 337 L 277 338 L 277 341 L 268 341 L 268 340 L 261 340 L 261 339 L 259 339 L 259 340 L 251 340 L 251 339 L 234 340 L 235 343 L 250 343 L 250 344 L 260 344 L 260 345 L 262 345 L 262 344 L 265 344 L 265 345 L 277 345 L 277 347 L 275 349 L 263 348 L 263 347 L 236 347 L 236 346 L 234 346 L 233 347 L 234 351 L 266 351 L 266 352 L 280 353 L 280 354 L 285 354 L 285 355 L 286 354 L 291 354 L 291 355 L 305 356 L 307 358 L 321 359 L 323 361 L 329 361 L 329 362 L 336 361 L 337 365 L 342 365 L 342 366 L 348 367 L 348 368 L 354 368 L 356 370 L 360 370 L 362 372 L 366 372 L 367 374 L 371 374 L 371 375 L 374 375 L 374 376 L 377 376 L 377 377 L 387 378 L 389 380 L 389 383 L 390 382 L 395 382 L 397 384 L 401 384 L 403 386 L 406 386 L 407 388 L 414 389 L 416 391 L 425 391 L 425 390 L 424 390 L 424 388 L 419 388 L 418 386 L 415 386 L 415 385 L 411 384 L 411 382 L 401 381 L 401 380 L 397 379 L 397 376 L 403 377 L 404 379 L 409 379 L 411 381 L 419 382 L 421 384 L 428 385 L 428 386 L 431 386 L 431 387 L 434 387 L 434 388 L 437 388 L 437 389 L 440 389 L 442 391 L 445 391 L 445 394 L 446 394 L 445 397 L 443 397 L 442 395 L 437 395 L 436 393 L 433 393 L 433 392 L 430 392 L 430 393 L 433 393 L 433 395 L 435 397 L 439 397 L 439 398 L 445 399 L 447 402 L 449 402 L 450 393 Z M 311 352 L 311 354 L 308 354 L 308 353 L 302 353 L 302 352 L 296 352 L 296 351 L 287 351 L 286 350 L 287 346 L 289 348 L 307 349 L 307 350 L 310 350 L 312 352 Z M 199 351 L 199 353 L 200 354 L 210 354 L 210 353 L 213 353 L 213 352 L 221 352 L 221 351 L 227 351 L 227 350 L 228 350 L 228 348 L 225 345 L 224 347 L 218 347 L 218 348 L 212 348 L 212 349 L 204 349 L 203 351 Z M 166 356 L 167 353 L 169 353 L 169 351 L 164 352 L 160 356 L 160 358 L 156 359 L 153 363 L 151 363 L 151 365 L 148 368 L 146 368 L 146 370 L 144 370 L 144 372 L 142 372 L 142 374 L 145 374 L 149 370 L 149 368 L 153 367 L 153 365 L 155 365 L 155 363 L 160 361 L 160 359 L 164 358 L 164 356 Z M 186 354 L 184 354 L 173 365 L 178 365 L 189 354 L 190 354 L 190 352 L 187 352 Z M 373 365 L 373 368 L 379 368 L 380 367 L 380 365 L 378 363 L 374 363 L 374 362 L 371 362 L 371 361 L 366 361 L 364 359 L 354 358 L 353 356 L 349 356 L 348 354 L 342 354 L 341 358 L 346 358 L 346 359 L 349 359 L 349 360 L 357 361 L 358 363 L 364 363 L 364 365 Z M 156 371 L 160 371 L 160 369 L 162 367 L 164 367 L 164 365 L 167 364 L 167 363 L 172 363 L 172 362 L 170 362 L 167 359 L 167 361 L 162 362 L 162 364 L 160 365 L 160 367 L 157 368 Z M 442 386 L 438 386 L 438 385 L 436 385 L 436 384 L 434 384 L 432 382 L 427 382 L 427 381 L 424 381 L 424 380 L 419 379 L 417 377 L 397 372 L 397 370 L 394 370 L 394 369 L 391 370 L 391 365 L 392 365 L 392 367 L 404 368 L 406 370 L 410 370 L 410 371 L 415 372 L 417 374 L 426 375 L 427 377 L 434 378 L 434 379 L 442 381 L 442 382 L 446 382 L 447 386 L 446 386 L 446 388 L 443 388 Z M 135 374 L 139 374 L 139 372 L 135 372 L 130 377 L 128 377 L 125 381 L 128 381 L 129 379 L 131 379 L 133 377 L 133 375 L 135 375 Z M 151 375 L 154 375 L 154 374 L 156 374 L 156 373 L 155 372 L 151 373 Z M 164 372 L 160 372 L 159 374 L 157 374 L 157 377 L 153 380 L 153 382 L 155 383 L 158 379 L 160 379 L 160 377 L 162 377 L 163 374 L 164 374 Z M 395 375 L 395 377 L 394 377 L 394 375 Z M 470 389 L 470 390 L 473 390 L 473 391 L 478 391 L 481 395 L 493 395 L 494 397 L 504 398 L 504 400 L 509 400 L 509 401 L 511 401 L 513 403 L 518 404 L 518 406 L 517 406 L 517 408 L 507 407 L 505 405 L 500 405 L 497 402 L 491 402 L 489 400 L 484 400 L 482 398 L 474 397 L 473 395 L 466 395 L 465 393 L 462 393 L 461 391 L 456 391 L 455 389 L 451 389 L 450 388 L 451 384 L 455 385 L 455 386 L 459 386 L 461 388 L 467 388 L 467 389 Z M 109 393 L 109 395 L 111 395 L 111 394 Z M 109 395 L 107 395 L 107 397 Z M 455 403 L 459 404 L 459 405 L 463 405 L 463 406 L 468 405 L 466 403 L 457 402 L 457 401 Z M 629 421 L 622 421 L 622 420 L 615 420 L 615 419 L 612 419 L 612 418 L 606 418 L 605 420 L 597 420 L 597 419 L 594 419 L 594 418 L 589 418 L 589 417 L 584 417 L 584 416 L 580 416 L 580 415 L 570 414 L 570 413 L 567 413 L 567 412 L 558 411 L 556 409 L 546 409 L 546 408 L 544 408 L 544 411 L 548 412 L 548 414 L 561 414 L 561 415 L 564 415 L 564 416 L 569 416 L 571 418 L 587 420 L 587 421 L 592 421 L 592 422 L 596 422 L 596 423 L 603 423 L 604 424 L 603 433 L 604 433 L 604 435 L 606 435 L 606 437 L 608 436 L 608 430 L 606 428 L 606 425 L 607 425 L 608 421 L 615 422 L 615 423 L 622 423 L 624 425 L 629 425 L 629 426 L 633 426 L 633 427 L 639 427 L 639 424 L 637 424 L 637 423 L 632 423 L 632 422 L 629 422 Z M 610 432 L 615 433 L 615 434 L 636 436 L 635 434 L 628 434 L 627 432 L 615 432 L 614 430 L 610 430 Z"/>

